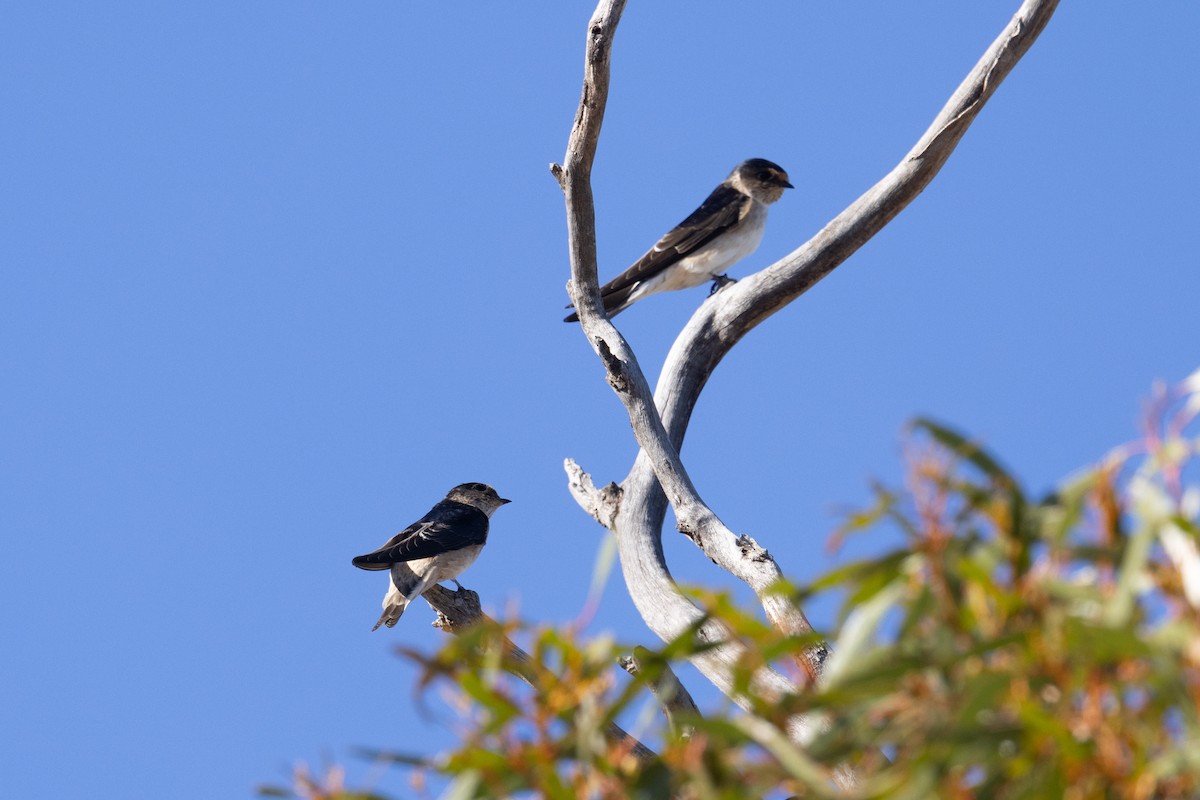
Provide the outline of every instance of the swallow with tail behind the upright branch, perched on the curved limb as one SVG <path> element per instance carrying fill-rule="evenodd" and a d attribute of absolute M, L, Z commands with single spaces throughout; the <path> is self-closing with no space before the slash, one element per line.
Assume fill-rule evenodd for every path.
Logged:
<path fill-rule="evenodd" d="M 605 311 L 616 317 L 656 291 L 689 289 L 706 281 L 715 281 L 715 291 L 732 283 L 721 272 L 758 247 L 767 206 L 782 197 L 785 188 L 794 187 L 779 164 L 766 158 L 743 161 L 691 216 L 600 287 Z M 563 321 L 577 319 L 578 314 L 571 314 Z"/>

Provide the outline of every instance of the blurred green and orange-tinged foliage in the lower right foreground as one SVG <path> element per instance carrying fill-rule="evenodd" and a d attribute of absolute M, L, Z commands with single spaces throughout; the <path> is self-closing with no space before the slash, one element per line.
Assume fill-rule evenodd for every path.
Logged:
<path fill-rule="evenodd" d="M 817 690 L 762 697 L 751 676 L 794 676 L 793 656 L 820 637 L 782 637 L 697 593 L 751 654 L 736 668 L 743 708 L 667 726 L 647 687 L 712 646 L 691 636 L 640 649 L 630 678 L 614 668 L 629 645 L 494 624 L 409 654 L 422 684 L 450 690 L 461 746 L 373 756 L 412 770 L 416 795 L 430 796 L 432 771 L 449 778 L 439 796 L 464 800 L 1200 796 L 1198 413 L 1200 373 L 1157 389 L 1138 441 L 1042 500 L 967 438 L 914 422 L 906 485 L 877 488 L 835 536 L 890 525 L 902 547 L 779 588 L 842 602 Z M 532 663 L 510 662 L 506 637 Z M 656 756 L 612 736 L 618 717 Z M 815 732 L 803 747 L 790 735 L 802 726 Z M 839 770 L 856 789 L 834 788 Z M 264 792 L 376 796 L 347 790 L 336 769 Z"/>

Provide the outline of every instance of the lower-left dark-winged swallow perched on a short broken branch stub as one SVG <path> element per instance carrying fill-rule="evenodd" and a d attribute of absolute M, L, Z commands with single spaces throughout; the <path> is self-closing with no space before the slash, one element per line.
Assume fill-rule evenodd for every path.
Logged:
<path fill-rule="evenodd" d="M 487 542 L 487 521 L 505 500 L 486 483 L 461 483 L 430 512 L 388 540 L 388 543 L 350 561 L 360 570 L 391 570 L 391 588 L 383 599 L 376 626 L 391 627 L 408 603 L 439 581 L 462 575 Z"/>

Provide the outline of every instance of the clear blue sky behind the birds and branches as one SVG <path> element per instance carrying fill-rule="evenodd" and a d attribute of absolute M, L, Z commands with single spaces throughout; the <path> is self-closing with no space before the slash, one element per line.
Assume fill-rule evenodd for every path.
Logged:
<path fill-rule="evenodd" d="M 630 2 L 594 185 L 601 277 L 738 161 L 782 164 L 760 269 L 907 151 L 1016 0 Z M 0 774 L 12 796 L 250 796 L 425 751 L 350 567 L 448 488 L 514 499 L 464 576 L 582 608 L 564 457 L 635 446 L 575 326 L 558 187 L 587 2 L 38 2 L 0 30 Z M 1034 492 L 1200 362 L 1200 6 L 1064 2 L 934 184 L 752 332 L 697 408 L 704 498 L 794 579 L 922 414 Z M 704 290 L 618 321 L 656 374 Z M 684 581 L 732 584 L 668 535 Z M 832 607 L 811 609 L 828 624 Z M 610 581 L 590 631 L 652 643 Z M 350 758 L 355 778 L 370 766 Z M 396 776 L 383 788 L 397 789 Z"/>

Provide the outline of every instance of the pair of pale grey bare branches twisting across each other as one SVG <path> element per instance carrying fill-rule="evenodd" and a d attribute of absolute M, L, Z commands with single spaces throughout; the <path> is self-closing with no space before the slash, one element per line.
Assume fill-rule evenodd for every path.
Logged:
<path fill-rule="evenodd" d="M 565 167 L 556 167 L 554 174 L 566 200 L 571 255 L 568 291 L 584 335 L 605 365 L 610 385 L 625 404 L 642 450 L 622 482 L 616 517 L 593 511 L 599 507 L 592 503 L 594 489 L 577 492 L 576 498 L 588 499 L 587 504 L 581 500 L 581 505 L 617 534 L 626 587 L 647 625 L 659 637 L 671 640 L 688 627 L 697 626 L 701 636 L 725 643 L 694 662 L 733 697 L 730 666 L 740 645 L 721 626 L 703 620 L 700 609 L 674 585 L 661 542 L 667 499 L 680 531 L 714 563 L 750 585 L 773 624 L 788 633 L 808 632 L 811 626 L 798 607 L 770 593 L 782 577 L 770 554 L 749 536 L 734 536 L 700 498 L 683 467 L 678 450 L 700 392 L 725 354 L 746 332 L 832 272 L 929 185 L 984 103 L 1045 28 L 1057 0 L 1026 0 L 1021 5 L 930 128 L 883 180 L 808 243 L 704 302 L 672 347 L 653 398 L 631 348 L 604 314 L 596 279 L 590 169 L 607 101 L 612 36 L 623 5 L 601 0 L 588 25 L 580 110 Z M 582 470 L 578 474 L 583 475 Z M 806 663 L 802 666 L 810 678 L 820 674 L 824 655 L 823 646 L 806 654 Z M 794 690 L 787 679 L 772 670 L 763 670 L 760 679 L 760 688 L 768 693 Z M 803 740 L 803 724 L 797 728 L 793 740 Z"/>

